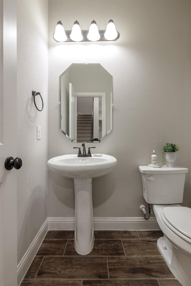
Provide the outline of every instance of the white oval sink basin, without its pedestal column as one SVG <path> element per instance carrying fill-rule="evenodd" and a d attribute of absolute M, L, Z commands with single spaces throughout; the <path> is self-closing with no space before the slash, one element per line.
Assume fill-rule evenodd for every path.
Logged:
<path fill-rule="evenodd" d="M 96 178 L 109 173 L 117 164 L 115 157 L 77 157 L 76 154 L 54 157 L 47 162 L 54 172 L 67 178 Z"/>

